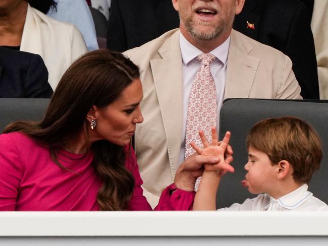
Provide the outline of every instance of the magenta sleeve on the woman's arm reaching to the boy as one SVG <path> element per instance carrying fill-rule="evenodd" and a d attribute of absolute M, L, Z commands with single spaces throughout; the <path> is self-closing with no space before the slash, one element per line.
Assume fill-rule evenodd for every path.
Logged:
<path fill-rule="evenodd" d="M 132 148 L 126 148 L 127 159 L 125 166 L 133 174 L 135 179 L 135 187 L 132 198 L 129 202 L 128 210 L 151 210 L 149 203 L 143 196 L 141 185 L 143 183 L 139 168 L 137 165 L 137 158 Z M 192 205 L 195 198 L 195 192 L 187 192 L 178 189 L 175 184 L 168 186 L 161 194 L 158 205 L 154 210 L 192 210 Z"/>

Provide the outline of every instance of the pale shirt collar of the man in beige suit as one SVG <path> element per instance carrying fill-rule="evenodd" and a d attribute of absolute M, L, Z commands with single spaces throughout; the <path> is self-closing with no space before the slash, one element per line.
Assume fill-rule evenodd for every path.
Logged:
<path fill-rule="evenodd" d="M 202 54 L 203 52 L 192 45 L 183 35 L 180 33 L 179 37 L 181 56 L 184 65 L 188 65 L 188 63 Z M 227 63 L 228 52 L 230 45 L 230 36 L 224 41 L 220 46 L 217 46 L 215 49 L 211 50 L 209 53 L 215 55 L 215 57 L 221 61 L 224 65 Z"/>

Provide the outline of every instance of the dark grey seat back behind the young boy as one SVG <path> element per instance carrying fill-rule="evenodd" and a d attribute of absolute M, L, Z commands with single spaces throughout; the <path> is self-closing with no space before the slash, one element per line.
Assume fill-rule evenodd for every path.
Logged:
<path fill-rule="evenodd" d="M 246 198 L 255 197 L 241 186 L 248 160 L 246 136 L 259 120 L 270 117 L 293 115 L 310 124 L 317 131 L 323 146 L 321 168 L 315 172 L 310 185 L 315 197 L 328 203 L 328 104 L 327 101 L 291 101 L 261 99 L 227 99 L 220 113 L 220 139 L 231 132 L 230 144 L 234 150 L 232 165 L 235 173 L 227 173 L 217 193 L 216 207 L 229 207 L 242 203 Z"/>

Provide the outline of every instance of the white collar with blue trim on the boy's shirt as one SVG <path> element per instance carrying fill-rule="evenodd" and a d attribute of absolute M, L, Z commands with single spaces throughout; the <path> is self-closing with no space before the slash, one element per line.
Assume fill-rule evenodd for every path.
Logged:
<path fill-rule="evenodd" d="M 312 197 L 312 193 L 307 190 L 308 186 L 306 183 L 304 183 L 301 187 L 297 188 L 295 191 L 279 198 L 274 199 L 273 197 L 270 197 L 270 201 L 266 203 L 262 210 L 266 210 L 272 200 L 275 200 L 278 202 L 278 204 L 285 208 L 285 209 L 295 209 L 299 206 L 301 206 L 305 201 L 307 201 L 309 198 Z"/>

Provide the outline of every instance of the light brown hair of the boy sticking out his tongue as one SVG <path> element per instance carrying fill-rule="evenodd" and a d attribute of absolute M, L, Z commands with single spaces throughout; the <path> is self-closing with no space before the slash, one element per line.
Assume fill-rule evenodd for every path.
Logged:
<path fill-rule="evenodd" d="M 299 183 L 309 183 L 322 159 L 321 141 L 315 130 L 292 116 L 257 122 L 247 136 L 246 146 L 267 154 L 272 165 L 287 160 Z"/>

